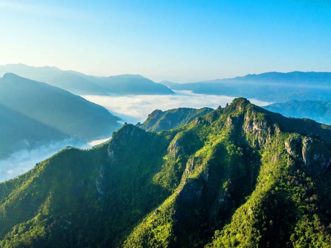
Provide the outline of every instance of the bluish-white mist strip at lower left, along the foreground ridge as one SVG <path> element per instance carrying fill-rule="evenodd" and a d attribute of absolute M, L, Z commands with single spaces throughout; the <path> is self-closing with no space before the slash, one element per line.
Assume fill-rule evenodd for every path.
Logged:
<path fill-rule="evenodd" d="M 51 157 L 66 146 L 88 149 L 101 144 L 109 138 L 92 140 L 88 143 L 74 138 L 49 142 L 31 150 L 19 150 L 12 153 L 8 158 L 0 160 L 0 182 L 9 180 L 32 169 L 37 163 Z"/>

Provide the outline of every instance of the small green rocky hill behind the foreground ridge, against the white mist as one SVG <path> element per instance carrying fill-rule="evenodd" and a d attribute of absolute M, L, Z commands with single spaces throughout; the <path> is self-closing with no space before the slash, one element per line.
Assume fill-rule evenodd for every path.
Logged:
<path fill-rule="evenodd" d="M 211 111 L 213 111 L 212 108 L 178 108 L 167 111 L 157 109 L 148 115 L 143 124 L 137 123 L 136 126 L 143 128 L 146 131 L 154 132 L 169 130 L 188 124 L 193 121 L 194 118 L 206 115 Z"/>

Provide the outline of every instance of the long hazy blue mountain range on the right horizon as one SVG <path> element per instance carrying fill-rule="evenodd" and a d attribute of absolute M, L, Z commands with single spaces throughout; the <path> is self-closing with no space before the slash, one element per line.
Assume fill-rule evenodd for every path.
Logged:
<path fill-rule="evenodd" d="M 331 73 L 269 72 L 243 77 L 171 85 L 173 90 L 191 90 L 200 94 L 244 96 L 263 101 L 330 100 Z"/>

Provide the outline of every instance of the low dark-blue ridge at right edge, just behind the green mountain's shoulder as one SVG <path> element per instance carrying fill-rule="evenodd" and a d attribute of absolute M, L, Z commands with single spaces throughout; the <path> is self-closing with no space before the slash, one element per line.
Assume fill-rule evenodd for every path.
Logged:
<path fill-rule="evenodd" d="M 309 118 L 320 123 L 331 124 L 331 101 L 289 101 L 273 103 L 263 108 L 284 116 Z"/>

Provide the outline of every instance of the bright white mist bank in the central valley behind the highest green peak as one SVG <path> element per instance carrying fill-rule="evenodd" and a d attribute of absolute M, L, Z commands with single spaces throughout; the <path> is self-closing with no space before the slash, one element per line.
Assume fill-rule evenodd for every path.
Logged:
<path fill-rule="evenodd" d="M 152 111 L 162 111 L 180 107 L 217 108 L 231 103 L 235 97 L 220 95 L 195 94 L 191 91 L 174 91 L 173 95 L 125 95 L 125 96 L 82 96 L 90 102 L 99 104 L 112 114 L 129 123 L 144 122 Z M 249 99 L 253 104 L 265 106 L 269 102 Z"/>

